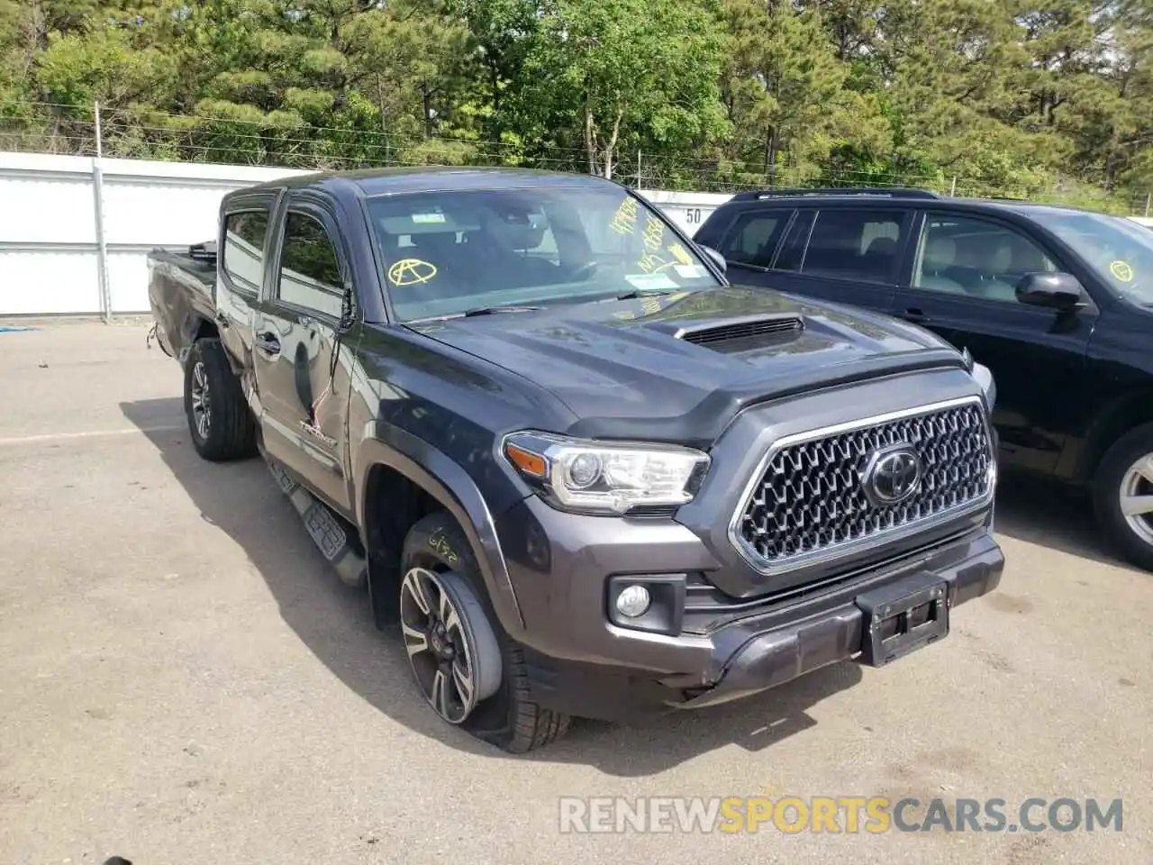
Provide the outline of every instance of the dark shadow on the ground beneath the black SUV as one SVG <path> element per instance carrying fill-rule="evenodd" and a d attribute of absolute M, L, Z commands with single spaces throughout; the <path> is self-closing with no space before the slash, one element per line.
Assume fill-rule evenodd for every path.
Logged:
<path fill-rule="evenodd" d="M 997 484 L 995 531 L 1018 541 L 1128 567 L 1098 528 L 1090 497 L 1052 481 L 1004 475 Z"/>

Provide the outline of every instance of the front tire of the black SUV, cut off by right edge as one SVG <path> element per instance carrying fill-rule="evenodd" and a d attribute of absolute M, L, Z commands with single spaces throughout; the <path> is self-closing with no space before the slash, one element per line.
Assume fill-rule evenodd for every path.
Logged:
<path fill-rule="evenodd" d="M 1138 471 L 1143 460 L 1144 473 Z M 1153 512 L 1126 517 L 1122 498 L 1131 495 L 1153 497 L 1153 423 L 1114 442 L 1093 480 L 1093 507 L 1101 528 L 1129 562 L 1153 571 Z"/>

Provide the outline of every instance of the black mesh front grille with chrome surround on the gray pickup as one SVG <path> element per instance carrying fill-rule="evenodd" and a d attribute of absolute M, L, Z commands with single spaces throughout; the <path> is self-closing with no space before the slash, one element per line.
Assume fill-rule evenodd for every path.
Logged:
<path fill-rule="evenodd" d="M 895 504 L 866 490 L 871 459 L 907 445 L 920 483 Z M 789 438 L 775 445 L 733 521 L 733 540 L 762 571 L 872 546 L 959 516 L 993 494 L 993 449 L 980 403 L 927 407 Z"/>

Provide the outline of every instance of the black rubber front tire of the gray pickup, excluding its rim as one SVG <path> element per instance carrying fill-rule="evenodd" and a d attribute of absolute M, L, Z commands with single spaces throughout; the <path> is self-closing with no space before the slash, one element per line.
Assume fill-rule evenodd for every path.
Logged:
<path fill-rule="evenodd" d="M 464 720 L 445 720 L 512 754 L 534 751 L 564 736 L 568 731 L 571 717 L 542 708 L 532 700 L 523 653 L 500 627 L 468 539 L 451 514 L 444 511 L 429 514 L 409 529 L 401 554 L 402 579 L 408 580 L 414 569 L 437 573 L 449 586 L 450 593 L 460 585 L 467 587 L 462 617 L 470 620 L 469 624 L 476 632 L 487 632 L 493 637 L 492 650 L 499 656 L 497 663 L 500 678 L 495 685 L 495 692 L 478 700 Z M 410 599 L 406 599 L 402 582 L 401 629 L 405 633 L 406 604 L 410 609 Z M 408 637 L 405 639 L 407 642 Z M 480 633 L 478 644 L 484 642 L 485 638 Z M 413 661 L 413 657 L 410 653 L 409 660 Z M 415 665 L 413 676 L 420 685 Z M 421 687 L 423 692 L 423 685 Z"/>

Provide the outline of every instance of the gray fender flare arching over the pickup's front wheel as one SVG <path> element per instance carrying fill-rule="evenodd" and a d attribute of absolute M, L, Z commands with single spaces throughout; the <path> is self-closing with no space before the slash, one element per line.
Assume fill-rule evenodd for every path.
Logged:
<path fill-rule="evenodd" d="M 362 527 L 366 527 L 368 476 L 377 465 L 405 475 L 453 516 L 472 544 L 473 556 L 502 627 L 512 637 L 522 634 L 525 618 L 508 577 L 492 513 L 468 473 L 444 452 L 413 434 L 389 424 L 369 423 L 356 451 L 354 473 L 357 483 L 356 522 Z"/>

